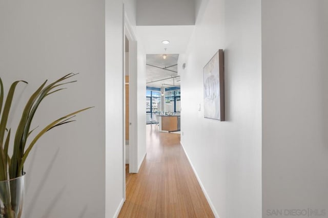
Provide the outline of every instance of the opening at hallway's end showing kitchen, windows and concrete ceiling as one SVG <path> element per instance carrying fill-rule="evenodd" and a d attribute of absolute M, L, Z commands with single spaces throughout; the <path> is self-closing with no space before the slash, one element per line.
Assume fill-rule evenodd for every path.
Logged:
<path fill-rule="evenodd" d="M 167 49 L 164 50 L 167 52 Z M 147 54 L 147 124 L 160 132 L 180 133 L 179 54 Z"/>

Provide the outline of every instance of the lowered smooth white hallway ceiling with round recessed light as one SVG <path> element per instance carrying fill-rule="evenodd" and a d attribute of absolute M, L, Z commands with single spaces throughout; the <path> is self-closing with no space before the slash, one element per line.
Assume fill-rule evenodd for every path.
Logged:
<path fill-rule="evenodd" d="M 144 45 L 146 54 L 182 54 L 186 52 L 194 26 L 137 26 L 138 39 Z M 168 45 L 161 43 L 169 40 Z"/>

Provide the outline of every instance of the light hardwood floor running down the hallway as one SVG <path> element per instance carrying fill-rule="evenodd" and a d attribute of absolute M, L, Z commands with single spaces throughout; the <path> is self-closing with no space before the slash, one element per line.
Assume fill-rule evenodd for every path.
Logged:
<path fill-rule="evenodd" d="M 118 217 L 214 217 L 180 145 L 180 134 L 147 125 L 147 156 L 127 175 L 126 202 Z"/>

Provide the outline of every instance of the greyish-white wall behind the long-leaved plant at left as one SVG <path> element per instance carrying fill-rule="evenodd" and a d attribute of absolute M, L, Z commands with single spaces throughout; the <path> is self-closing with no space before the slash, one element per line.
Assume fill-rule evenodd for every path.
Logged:
<path fill-rule="evenodd" d="M 0 76 L 19 84 L 8 127 L 46 79 L 70 72 L 77 83 L 49 96 L 32 126 L 86 106 L 76 122 L 51 130 L 25 165 L 25 217 L 105 216 L 105 1 L 1 1 Z"/>

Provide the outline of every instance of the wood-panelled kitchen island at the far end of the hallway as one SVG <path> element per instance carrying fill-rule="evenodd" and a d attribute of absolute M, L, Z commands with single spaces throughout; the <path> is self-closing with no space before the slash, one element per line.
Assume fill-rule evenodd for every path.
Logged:
<path fill-rule="evenodd" d="M 177 132 L 180 131 L 180 115 L 156 115 L 159 131 Z"/>

